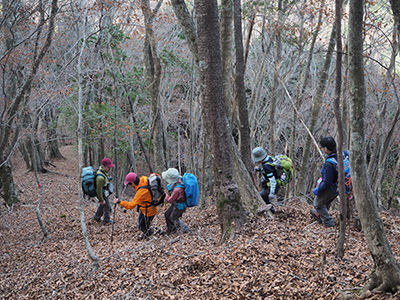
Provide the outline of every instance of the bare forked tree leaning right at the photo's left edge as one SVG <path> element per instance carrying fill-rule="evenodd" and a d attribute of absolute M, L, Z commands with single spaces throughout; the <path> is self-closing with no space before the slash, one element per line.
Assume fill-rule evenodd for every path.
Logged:
<path fill-rule="evenodd" d="M 19 115 L 18 111 L 24 111 L 26 109 L 27 102 L 29 100 L 30 91 L 32 89 L 33 80 L 38 72 L 39 66 L 43 61 L 46 53 L 48 52 L 50 45 L 53 39 L 54 33 L 54 22 L 55 17 L 57 15 L 58 1 L 53 0 L 51 2 L 51 9 L 49 18 L 44 18 L 42 14 L 42 18 L 40 18 L 40 22 L 38 23 L 38 27 L 33 30 L 33 33 L 36 33 L 36 39 L 29 40 L 29 37 L 26 37 L 26 43 L 33 43 L 35 51 L 33 51 L 33 55 L 31 57 L 31 64 L 29 65 L 28 71 L 26 71 L 26 75 L 22 73 L 22 70 L 19 70 L 17 73 L 19 74 L 19 78 L 14 75 L 15 70 L 8 70 L 7 68 L 3 68 L 3 87 L 6 90 L 2 103 L 2 111 L 1 111 L 1 119 L 0 119 L 0 186 L 3 188 L 3 192 L 1 196 L 4 198 L 7 205 L 11 205 L 15 202 L 18 202 L 18 195 L 16 193 L 14 180 L 12 177 L 11 166 L 10 166 L 10 156 L 15 150 L 17 143 L 19 141 L 19 134 L 21 129 L 21 124 L 16 122 L 16 117 Z M 14 6 L 13 6 L 14 5 Z M 20 7 L 20 2 L 13 1 L 3 1 L 3 17 L 5 20 L 5 28 L 6 31 L 6 52 L 2 53 L 2 57 L 0 61 L 8 61 L 9 55 L 12 54 L 14 50 L 17 49 L 19 44 L 22 44 L 23 40 L 19 40 L 19 34 L 11 34 L 13 32 L 11 26 L 20 25 L 26 22 L 26 19 L 22 20 L 22 18 L 26 15 L 29 15 L 28 12 L 26 14 L 19 14 L 18 11 L 24 11 L 22 7 Z M 40 1 L 38 5 L 39 12 L 44 12 L 45 7 L 43 3 Z M 11 18 L 11 19 L 9 19 Z M 28 23 L 28 22 L 27 22 Z M 16 26 L 17 26 L 16 25 Z M 46 35 L 44 37 L 43 47 L 39 47 L 41 43 L 39 42 L 39 37 L 43 33 L 43 30 L 47 28 Z M 22 30 L 19 28 L 18 30 Z M 16 31 L 18 31 L 16 30 Z M 22 39 L 22 38 L 20 38 Z M 24 67 L 25 68 L 25 67 Z M 10 91 L 11 89 L 12 91 Z"/>

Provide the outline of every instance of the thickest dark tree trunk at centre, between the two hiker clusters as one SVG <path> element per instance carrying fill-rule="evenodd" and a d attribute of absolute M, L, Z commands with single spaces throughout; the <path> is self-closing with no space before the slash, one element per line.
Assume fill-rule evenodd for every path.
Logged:
<path fill-rule="evenodd" d="M 221 225 L 221 242 L 234 237 L 247 220 L 233 176 L 230 133 L 224 109 L 221 50 L 216 0 L 195 1 L 200 80 L 204 97 L 203 119 L 211 141 L 214 195 Z"/>

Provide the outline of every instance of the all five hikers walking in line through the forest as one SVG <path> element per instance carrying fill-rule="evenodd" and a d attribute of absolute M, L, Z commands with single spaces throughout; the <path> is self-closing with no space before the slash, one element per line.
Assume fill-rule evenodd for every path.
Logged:
<path fill-rule="evenodd" d="M 320 140 L 321 150 L 326 154 L 325 162 L 321 169 L 321 178 L 318 180 L 317 187 L 314 188 L 315 194 L 314 209 L 310 210 L 311 217 L 316 219 L 318 223 L 324 227 L 334 227 L 335 222 L 329 214 L 329 208 L 335 200 L 337 193 L 338 171 L 337 165 L 332 161 L 337 161 L 336 142 L 330 137 L 324 137 Z M 276 195 L 281 186 L 284 186 L 293 177 L 292 171 L 279 172 L 276 166 L 276 157 L 269 156 L 262 147 L 256 147 L 252 151 L 252 158 L 254 163 L 261 164 L 260 168 L 256 168 L 260 172 L 260 196 L 267 204 L 271 204 L 271 212 L 275 213 L 273 206 L 276 202 Z M 291 161 L 290 161 L 291 164 Z M 103 224 L 110 224 L 111 220 L 111 205 L 109 200 L 109 193 L 107 186 L 109 182 L 108 173 L 114 167 L 110 158 L 104 158 L 101 161 L 101 167 L 97 171 L 96 176 L 96 194 L 99 200 L 99 206 L 93 217 L 94 221 L 103 222 Z M 293 166 L 292 166 L 293 168 Z M 140 239 L 144 239 L 153 235 L 154 229 L 151 223 L 154 216 L 158 213 L 157 205 L 167 202 L 170 204 L 165 211 L 165 221 L 167 224 L 166 230 L 159 230 L 160 234 L 170 235 L 177 232 L 184 225 L 180 219 L 187 208 L 187 201 L 182 182 L 182 176 L 175 168 L 169 168 L 167 171 L 162 172 L 162 178 L 167 183 L 167 193 L 162 192 L 161 197 L 157 204 L 153 201 L 151 190 L 148 188 L 148 177 L 139 177 L 136 173 L 130 172 L 126 175 L 124 184 L 135 189 L 136 193 L 131 201 L 121 201 L 114 198 L 115 205 L 119 205 L 125 209 L 134 209 L 138 207 L 138 228 L 142 232 Z M 152 203 L 149 205 L 149 203 Z M 103 217 L 103 219 L 102 219 Z M 187 227 L 187 226 L 186 226 Z"/>

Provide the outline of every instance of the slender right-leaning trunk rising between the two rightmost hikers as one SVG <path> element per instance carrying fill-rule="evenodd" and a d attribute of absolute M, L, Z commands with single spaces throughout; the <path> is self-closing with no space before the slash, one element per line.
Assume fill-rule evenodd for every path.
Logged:
<path fill-rule="evenodd" d="M 312 134 L 314 134 L 315 125 L 317 123 L 323 93 L 325 91 L 325 87 L 326 87 L 326 84 L 328 81 L 329 67 L 331 65 L 333 50 L 335 48 L 335 32 L 336 32 L 335 26 L 333 26 L 332 32 L 331 32 L 331 37 L 329 39 L 328 51 L 327 51 L 326 57 L 325 57 L 325 63 L 321 70 L 321 77 L 319 80 L 317 92 L 315 95 L 315 100 L 314 100 L 313 107 L 312 107 L 310 125 L 308 127 Z M 307 192 L 307 190 L 306 190 L 307 173 L 308 173 L 307 168 L 308 168 L 311 146 L 312 146 L 311 137 L 310 137 L 310 135 L 307 135 L 306 141 L 304 144 L 304 149 L 303 149 L 303 156 L 301 158 L 301 165 L 300 165 L 299 176 L 298 176 L 299 180 L 297 183 L 297 194 L 299 194 L 299 195 L 305 195 Z"/>

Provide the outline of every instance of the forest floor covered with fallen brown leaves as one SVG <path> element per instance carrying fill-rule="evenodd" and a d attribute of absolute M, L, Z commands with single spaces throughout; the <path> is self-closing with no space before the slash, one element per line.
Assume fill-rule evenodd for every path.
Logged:
<path fill-rule="evenodd" d="M 190 233 L 138 240 L 136 209 L 118 207 L 112 226 L 95 224 L 97 204 L 84 201 L 87 232 L 100 268 L 93 271 L 82 238 L 78 208 L 78 159 L 66 159 L 40 174 L 39 189 L 21 157 L 12 161 L 21 203 L 0 209 L 0 299 L 343 299 L 365 284 L 373 268 L 365 237 L 349 224 L 345 256 L 335 257 L 337 230 L 315 223 L 310 205 L 293 200 L 276 206 L 274 218 L 249 217 L 235 239 L 219 245 L 216 207 L 190 208 Z M 127 199 L 128 196 L 124 195 Z M 154 225 L 165 227 L 162 212 Z M 338 212 L 332 212 L 338 221 Z M 400 260 L 400 217 L 381 212 L 389 242 Z M 358 297 L 355 297 L 358 298 Z M 400 299 L 399 293 L 370 299 Z"/>

